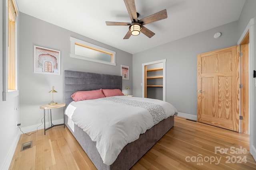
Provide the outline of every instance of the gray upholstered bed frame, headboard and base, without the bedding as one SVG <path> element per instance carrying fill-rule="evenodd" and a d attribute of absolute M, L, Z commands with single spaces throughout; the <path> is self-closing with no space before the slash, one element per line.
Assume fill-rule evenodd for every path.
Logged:
<path fill-rule="evenodd" d="M 97 74 L 79 71 L 64 71 L 64 102 L 66 107 L 73 101 L 70 97 L 77 91 L 88 91 L 98 89 L 120 89 L 122 90 L 122 76 Z M 110 97 L 111 98 L 111 97 Z M 116 100 L 131 100 L 133 97 L 116 96 Z M 119 99 L 124 98 L 124 99 Z M 107 99 L 107 98 L 106 98 Z M 142 98 L 143 99 L 143 98 Z M 96 99 L 98 100 L 98 99 Z M 105 100 L 105 99 L 99 99 Z M 132 99 L 133 100 L 133 99 Z M 109 102 L 109 101 L 106 101 Z M 74 102 L 73 102 L 74 103 Z M 71 123 L 70 123 L 71 122 Z M 78 125 L 70 121 L 68 115 L 65 115 L 65 124 L 74 135 L 78 143 L 84 149 L 88 157 L 92 160 L 98 170 L 128 170 L 130 169 L 154 144 L 172 128 L 174 124 L 174 115 L 163 119 L 152 128 L 140 134 L 135 141 L 128 143 L 120 151 L 113 163 L 104 163 L 102 155 L 97 149 L 97 144 L 91 137 Z M 108 156 L 107 156 L 108 157 Z"/>

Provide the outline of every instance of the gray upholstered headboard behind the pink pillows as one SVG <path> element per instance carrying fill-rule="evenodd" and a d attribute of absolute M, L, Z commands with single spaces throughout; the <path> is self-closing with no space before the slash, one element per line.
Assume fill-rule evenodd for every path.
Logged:
<path fill-rule="evenodd" d="M 122 76 L 64 70 L 64 102 L 66 106 L 72 102 L 74 92 L 98 89 L 122 90 Z"/>

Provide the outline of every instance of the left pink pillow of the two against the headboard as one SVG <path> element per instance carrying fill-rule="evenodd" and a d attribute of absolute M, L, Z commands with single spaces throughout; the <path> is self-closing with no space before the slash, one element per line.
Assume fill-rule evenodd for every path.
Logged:
<path fill-rule="evenodd" d="M 102 89 L 90 90 L 90 91 L 79 91 L 71 95 L 71 98 L 75 102 L 78 102 L 80 100 L 90 100 L 90 99 L 98 99 L 98 98 L 104 98 L 104 97 L 105 96 L 102 93 Z"/>

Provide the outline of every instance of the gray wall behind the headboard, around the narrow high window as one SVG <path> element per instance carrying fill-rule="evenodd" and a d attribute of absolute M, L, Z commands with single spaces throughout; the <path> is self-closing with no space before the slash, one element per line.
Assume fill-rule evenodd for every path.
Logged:
<path fill-rule="evenodd" d="M 43 110 L 39 109 L 39 106 L 48 104 L 51 101 L 51 94 L 48 92 L 52 89 L 52 86 L 54 86 L 54 89 L 58 92 L 54 94 L 54 101 L 63 102 L 64 70 L 121 75 L 121 64 L 123 64 L 130 68 L 129 80 L 123 80 L 123 86 L 129 86 L 132 90 L 132 54 L 110 47 L 109 45 L 98 41 L 94 41 L 88 37 L 78 35 L 77 33 L 68 31 L 67 29 L 63 29 L 51 23 L 38 20 L 37 18 L 23 13 L 20 13 L 19 17 L 18 64 L 20 77 L 19 98 L 21 127 L 41 123 Z M 116 51 L 116 66 L 71 58 L 70 36 Z M 61 75 L 33 72 L 34 45 L 61 51 Z M 63 118 L 62 109 L 54 109 L 52 111 L 60 111 L 58 114 L 52 114 L 52 118 L 54 120 Z M 34 130 L 36 130 L 36 127 Z"/>

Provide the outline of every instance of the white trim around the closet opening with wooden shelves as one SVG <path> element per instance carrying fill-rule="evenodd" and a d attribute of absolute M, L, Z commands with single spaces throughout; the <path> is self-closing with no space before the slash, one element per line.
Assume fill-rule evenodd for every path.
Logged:
<path fill-rule="evenodd" d="M 142 64 L 142 98 L 144 98 L 144 88 L 145 88 L 145 66 L 150 64 L 163 63 L 163 101 L 166 101 L 166 59 L 152 61 L 149 63 Z"/>

